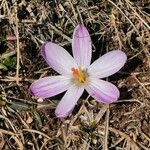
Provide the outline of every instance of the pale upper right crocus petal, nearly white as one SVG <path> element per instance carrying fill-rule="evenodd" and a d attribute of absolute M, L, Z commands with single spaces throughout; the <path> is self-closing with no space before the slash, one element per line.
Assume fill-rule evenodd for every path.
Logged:
<path fill-rule="evenodd" d="M 108 52 L 93 62 L 87 72 L 89 75 L 105 78 L 118 72 L 127 60 L 126 54 L 121 50 Z"/>

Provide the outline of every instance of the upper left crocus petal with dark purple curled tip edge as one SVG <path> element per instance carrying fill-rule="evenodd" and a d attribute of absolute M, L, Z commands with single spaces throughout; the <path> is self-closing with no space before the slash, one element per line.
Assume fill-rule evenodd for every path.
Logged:
<path fill-rule="evenodd" d="M 77 68 L 73 57 L 57 44 L 51 42 L 43 44 L 41 53 L 46 62 L 62 75 L 70 74 L 73 67 Z"/>

